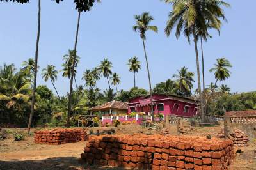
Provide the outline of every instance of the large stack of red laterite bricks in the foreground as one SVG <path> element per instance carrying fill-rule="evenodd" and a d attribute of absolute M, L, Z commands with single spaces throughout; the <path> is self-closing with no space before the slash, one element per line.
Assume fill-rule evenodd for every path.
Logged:
<path fill-rule="evenodd" d="M 231 140 L 163 135 L 90 137 L 81 158 L 89 164 L 124 169 L 227 169 Z"/>

